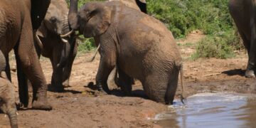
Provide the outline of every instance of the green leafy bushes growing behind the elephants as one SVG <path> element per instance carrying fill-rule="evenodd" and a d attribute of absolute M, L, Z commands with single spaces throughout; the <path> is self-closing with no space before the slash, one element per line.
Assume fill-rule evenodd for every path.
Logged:
<path fill-rule="evenodd" d="M 79 6 L 87 1 L 92 0 L 80 0 Z M 235 55 L 233 50 L 242 46 L 228 11 L 228 0 L 146 1 L 149 15 L 165 23 L 175 38 L 185 38 L 193 30 L 201 30 L 207 35 L 196 46 L 192 56 L 195 59 L 230 58 Z M 82 45 L 80 50 L 92 48 L 92 40 L 86 41 L 88 44 Z"/>

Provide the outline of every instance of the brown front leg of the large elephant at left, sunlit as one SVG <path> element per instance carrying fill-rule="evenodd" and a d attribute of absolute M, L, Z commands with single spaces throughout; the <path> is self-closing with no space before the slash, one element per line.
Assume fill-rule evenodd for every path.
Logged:
<path fill-rule="evenodd" d="M 19 43 L 16 45 L 16 58 L 20 60 L 18 65 L 31 81 L 33 86 L 33 104 L 32 107 L 38 110 L 51 110 L 52 107 L 47 101 L 47 84 L 43 74 L 41 64 L 33 45 L 33 32 L 31 18 L 26 16 L 21 29 Z M 21 86 L 23 87 L 23 86 Z"/>

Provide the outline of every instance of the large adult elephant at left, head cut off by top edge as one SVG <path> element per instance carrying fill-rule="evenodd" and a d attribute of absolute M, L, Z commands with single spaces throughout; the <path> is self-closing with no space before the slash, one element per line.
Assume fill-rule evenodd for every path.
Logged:
<path fill-rule="evenodd" d="M 8 58 L 14 48 L 20 102 L 28 105 L 27 87 L 23 84 L 25 73 L 33 85 L 32 107 L 38 110 L 52 109 L 47 101 L 46 78 L 33 45 L 33 30 L 41 25 L 49 4 L 50 0 L 0 1 L 0 50 Z M 6 67 L 10 76 L 9 66 Z"/>

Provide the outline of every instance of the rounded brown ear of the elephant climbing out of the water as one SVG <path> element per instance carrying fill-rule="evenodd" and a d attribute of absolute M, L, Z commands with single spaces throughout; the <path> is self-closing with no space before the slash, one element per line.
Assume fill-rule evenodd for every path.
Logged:
<path fill-rule="evenodd" d="M 99 36 L 107 31 L 111 23 L 112 10 L 108 6 L 100 5 L 90 12 L 90 19 L 85 23 L 83 35 L 85 38 Z"/>

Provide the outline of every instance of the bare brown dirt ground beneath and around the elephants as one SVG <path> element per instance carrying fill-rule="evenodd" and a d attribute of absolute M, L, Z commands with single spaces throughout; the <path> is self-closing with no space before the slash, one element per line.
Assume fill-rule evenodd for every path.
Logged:
<path fill-rule="evenodd" d="M 186 39 L 177 41 L 184 60 L 186 95 L 198 92 L 256 93 L 255 79 L 243 76 L 247 63 L 245 51 L 236 52 L 235 58 L 226 60 L 189 59 L 196 43 L 203 37 L 200 31 L 194 31 Z M 90 82 L 95 82 L 99 64 L 99 55 L 94 62 L 86 62 L 92 54 L 80 53 L 75 59 L 71 87 L 62 93 L 48 92 L 53 110 L 20 110 L 19 127 L 161 127 L 154 121 L 154 116 L 165 111 L 167 106 L 146 100 L 139 81 L 133 86 L 133 97 L 125 97 L 119 90 L 115 90 L 113 95 L 100 95 L 87 87 Z M 43 58 L 41 65 L 50 83 L 50 61 Z M 14 59 L 11 67 L 15 67 Z M 11 73 L 13 83 L 17 85 L 16 72 Z M 16 87 L 16 94 L 17 90 Z M 178 88 L 177 98 L 179 94 L 181 90 Z M 18 95 L 16 100 L 18 102 Z M 0 114 L 0 127 L 9 127 L 9 120 L 4 114 Z"/>

